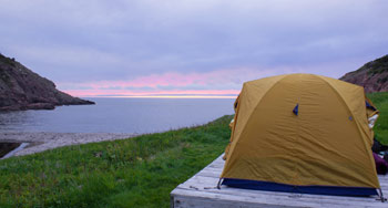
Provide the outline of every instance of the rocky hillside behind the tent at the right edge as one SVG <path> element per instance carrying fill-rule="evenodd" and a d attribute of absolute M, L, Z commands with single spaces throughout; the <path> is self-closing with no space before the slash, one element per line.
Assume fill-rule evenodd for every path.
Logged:
<path fill-rule="evenodd" d="M 388 55 L 368 62 L 339 80 L 364 86 L 367 93 L 386 92 L 388 91 Z"/>

